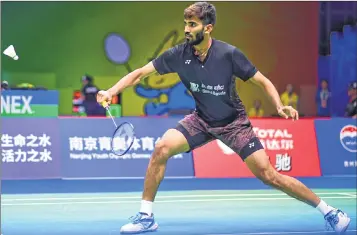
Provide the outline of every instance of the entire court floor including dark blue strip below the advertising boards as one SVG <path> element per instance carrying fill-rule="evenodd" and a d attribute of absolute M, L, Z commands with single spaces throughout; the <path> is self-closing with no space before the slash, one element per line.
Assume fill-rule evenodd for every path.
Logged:
<path fill-rule="evenodd" d="M 300 179 L 352 219 L 356 178 Z M 143 180 L 2 182 L 3 235 L 118 235 L 140 207 Z M 154 204 L 162 235 L 334 234 L 322 215 L 256 179 L 166 179 Z"/>

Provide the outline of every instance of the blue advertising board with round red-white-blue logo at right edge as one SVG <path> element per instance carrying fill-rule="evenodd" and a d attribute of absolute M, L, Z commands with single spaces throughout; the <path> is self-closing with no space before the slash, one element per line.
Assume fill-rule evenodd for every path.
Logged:
<path fill-rule="evenodd" d="M 356 120 L 315 120 L 315 128 L 322 175 L 356 175 Z"/>

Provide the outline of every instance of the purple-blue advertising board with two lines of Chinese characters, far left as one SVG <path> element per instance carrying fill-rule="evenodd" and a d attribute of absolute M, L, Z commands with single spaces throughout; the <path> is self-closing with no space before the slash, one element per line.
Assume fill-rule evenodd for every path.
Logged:
<path fill-rule="evenodd" d="M 2 118 L 1 178 L 60 177 L 57 118 Z"/>

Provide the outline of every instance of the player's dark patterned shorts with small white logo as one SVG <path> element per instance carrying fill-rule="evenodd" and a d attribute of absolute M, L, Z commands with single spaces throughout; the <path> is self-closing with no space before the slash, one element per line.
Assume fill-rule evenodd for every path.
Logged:
<path fill-rule="evenodd" d="M 230 147 L 243 160 L 264 149 L 245 116 L 237 117 L 226 126 L 211 127 L 194 112 L 182 119 L 176 129 L 186 137 L 190 151 L 216 139 Z"/>

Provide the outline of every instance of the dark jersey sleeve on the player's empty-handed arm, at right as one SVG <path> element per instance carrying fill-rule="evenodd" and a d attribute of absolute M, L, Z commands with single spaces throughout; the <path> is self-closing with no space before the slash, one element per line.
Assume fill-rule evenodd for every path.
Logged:
<path fill-rule="evenodd" d="M 234 75 L 243 81 L 248 81 L 258 72 L 252 62 L 237 48 L 233 50 L 232 61 Z"/>

